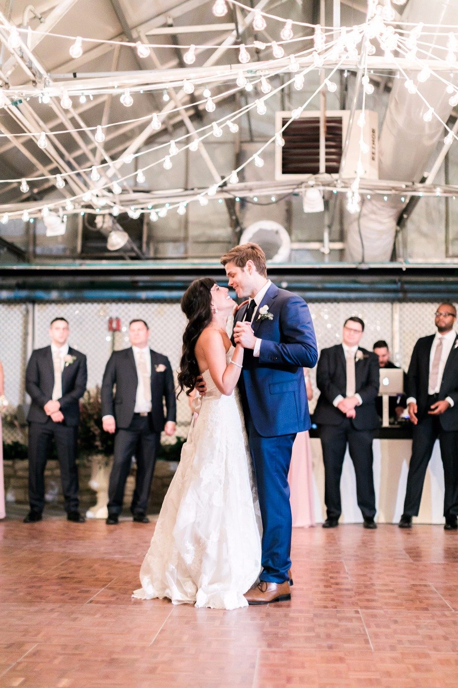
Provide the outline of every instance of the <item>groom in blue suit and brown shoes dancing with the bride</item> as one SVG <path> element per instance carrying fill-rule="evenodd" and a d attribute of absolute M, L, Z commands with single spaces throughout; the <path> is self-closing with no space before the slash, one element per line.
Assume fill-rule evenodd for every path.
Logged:
<path fill-rule="evenodd" d="M 260 582 L 249 604 L 290 599 L 291 509 L 288 470 L 296 433 L 310 428 L 304 367 L 317 363 L 317 341 L 304 299 L 267 279 L 257 244 L 222 256 L 229 287 L 249 297 L 236 313 L 233 340 L 245 349 L 239 380 L 262 515 Z"/>

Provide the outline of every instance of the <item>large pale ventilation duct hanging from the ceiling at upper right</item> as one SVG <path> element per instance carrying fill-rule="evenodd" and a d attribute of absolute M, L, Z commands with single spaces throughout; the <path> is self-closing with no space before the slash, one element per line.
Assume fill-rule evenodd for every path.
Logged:
<path fill-rule="evenodd" d="M 402 20 L 413 24 L 456 25 L 458 2 L 411 0 Z M 437 56 L 442 56 L 444 51 L 437 48 L 445 47 L 446 34 L 428 26 L 428 42 L 435 45 L 435 48 L 431 47 L 431 55 L 437 53 Z M 407 76 L 417 83 L 416 73 L 407 73 Z M 417 86 L 418 92 L 446 122 L 453 107 L 448 103 L 450 96 L 444 84 L 431 77 L 425 83 L 417 83 Z M 407 92 L 404 79 L 393 80 L 378 146 L 380 179 L 418 182 L 423 177 L 431 153 L 444 135 L 444 128 L 437 118 L 424 122 L 422 114 L 426 109 L 422 98 Z M 396 221 L 403 207 L 400 197 L 389 196 L 384 201 L 372 196 L 370 200 L 363 200 L 360 213 L 352 215 L 345 210 L 345 260 L 389 261 L 396 236 Z"/>

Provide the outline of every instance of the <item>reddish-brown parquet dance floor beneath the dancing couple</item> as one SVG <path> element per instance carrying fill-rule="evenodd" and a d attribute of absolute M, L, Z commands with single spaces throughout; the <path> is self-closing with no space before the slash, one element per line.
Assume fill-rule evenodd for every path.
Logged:
<path fill-rule="evenodd" d="M 153 525 L 0 522 L 0 686 L 457 688 L 458 534 L 295 529 L 290 603 L 130 598 Z"/>

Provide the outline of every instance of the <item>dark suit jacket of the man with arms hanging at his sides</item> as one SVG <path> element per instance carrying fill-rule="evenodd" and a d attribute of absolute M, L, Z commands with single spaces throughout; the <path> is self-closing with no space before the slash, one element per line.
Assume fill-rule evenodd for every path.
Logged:
<path fill-rule="evenodd" d="M 150 349 L 150 427 L 161 432 L 168 420 L 176 421 L 176 397 L 172 367 L 167 356 Z M 113 385 L 116 392 L 113 394 Z M 126 429 L 132 422 L 137 396 L 137 368 L 132 347 L 114 351 L 106 364 L 102 382 L 102 416 L 114 416 L 116 427 Z M 164 400 L 165 409 L 164 413 Z"/>

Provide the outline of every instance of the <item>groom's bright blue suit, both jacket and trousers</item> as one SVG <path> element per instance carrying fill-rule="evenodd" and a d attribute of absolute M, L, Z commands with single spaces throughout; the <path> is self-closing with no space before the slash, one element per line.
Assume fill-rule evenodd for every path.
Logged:
<path fill-rule="evenodd" d="M 268 306 L 272 319 L 262 318 Z M 244 319 L 240 308 L 234 325 Z M 261 580 L 282 583 L 291 566 L 288 471 L 296 433 L 310 428 L 303 368 L 317 364 L 314 328 L 304 299 L 271 284 L 251 325 L 260 356 L 245 350 L 239 380 L 262 515 Z"/>

